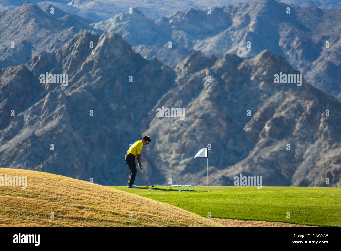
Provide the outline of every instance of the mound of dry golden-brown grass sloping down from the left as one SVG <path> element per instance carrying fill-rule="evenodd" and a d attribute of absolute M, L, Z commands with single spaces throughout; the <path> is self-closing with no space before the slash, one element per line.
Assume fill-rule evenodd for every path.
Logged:
<path fill-rule="evenodd" d="M 1 227 L 222 227 L 181 208 L 98 184 L 45 172 L 0 168 L 27 176 L 27 188 L 0 186 Z M 50 212 L 54 219 L 50 219 Z M 129 213 L 133 213 L 133 219 Z"/>

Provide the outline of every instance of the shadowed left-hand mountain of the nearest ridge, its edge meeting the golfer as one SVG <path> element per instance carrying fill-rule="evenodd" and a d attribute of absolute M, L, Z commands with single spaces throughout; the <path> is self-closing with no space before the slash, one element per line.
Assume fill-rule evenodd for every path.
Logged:
<path fill-rule="evenodd" d="M 46 72 L 68 74 L 68 85 L 45 83 Z M 168 66 L 134 53 L 118 34 L 87 32 L 2 69 L 0 166 L 125 184 L 129 144 L 140 138 L 139 123 L 174 78 Z"/>

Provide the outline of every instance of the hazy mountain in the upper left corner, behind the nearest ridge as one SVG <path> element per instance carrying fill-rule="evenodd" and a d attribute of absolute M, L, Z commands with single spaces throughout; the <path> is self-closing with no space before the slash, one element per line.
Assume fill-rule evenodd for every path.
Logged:
<path fill-rule="evenodd" d="M 54 51 L 81 31 L 101 33 L 89 26 L 89 19 L 50 4 L 40 9 L 26 2 L 16 10 L 0 12 L 0 20 L 0 68 L 25 64 L 39 52 Z"/>

